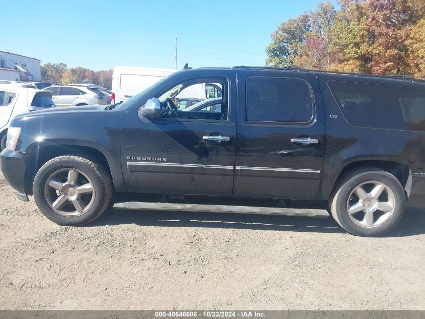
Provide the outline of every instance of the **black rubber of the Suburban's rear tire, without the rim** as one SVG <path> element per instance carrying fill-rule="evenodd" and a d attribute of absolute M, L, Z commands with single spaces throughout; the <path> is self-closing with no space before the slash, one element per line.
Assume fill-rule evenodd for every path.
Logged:
<path fill-rule="evenodd" d="M 383 182 L 388 187 L 391 188 L 395 197 L 395 208 L 391 217 L 382 225 L 379 225 L 373 228 L 365 228 L 365 227 L 361 227 L 357 225 L 355 222 L 351 220 L 347 212 L 347 201 L 348 201 L 348 197 L 350 196 L 351 192 L 353 191 L 355 187 L 357 187 L 359 184 L 363 182 L 371 181 L 371 180 Z M 390 231 L 391 229 L 393 229 L 395 225 L 397 225 L 397 223 L 400 221 L 404 213 L 406 198 L 404 195 L 403 187 L 393 175 L 387 172 L 369 171 L 369 172 L 363 172 L 358 175 L 355 175 L 343 184 L 343 186 L 341 187 L 341 190 L 338 193 L 339 194 L 338 194 L 337 202 L 336 202 L 337 217 L 339 219 L 339 222 L 341 223 L 341 226 L 353 235 L 359 235 L 359 236 L 383 235 L 387 233 L 388 231 Z"/>

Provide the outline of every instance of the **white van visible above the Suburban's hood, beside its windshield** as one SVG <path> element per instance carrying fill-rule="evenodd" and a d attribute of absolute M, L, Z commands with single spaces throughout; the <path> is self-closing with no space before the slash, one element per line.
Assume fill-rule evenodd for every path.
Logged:
<path fill-rule="evenodd" d="M 171 69 L 115 67 L 112 74 L 111 103 L 126 101 L 176 71 Z"/>

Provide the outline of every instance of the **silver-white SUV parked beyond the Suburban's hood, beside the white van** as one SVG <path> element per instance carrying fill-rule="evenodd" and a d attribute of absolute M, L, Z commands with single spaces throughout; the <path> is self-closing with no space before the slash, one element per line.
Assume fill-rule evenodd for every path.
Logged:
<path fill-rule="evenodd" d="M 97 87 L 80 85 L 52 85 L 44 90 L 52 92 L 57 106 L 109 104 L 108 96 Z"/>

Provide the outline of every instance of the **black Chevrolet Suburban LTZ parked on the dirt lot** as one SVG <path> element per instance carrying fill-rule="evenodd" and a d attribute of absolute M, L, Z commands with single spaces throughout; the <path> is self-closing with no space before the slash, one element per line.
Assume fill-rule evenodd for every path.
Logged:
<path fill-rule="evenodd" d="M 194 89 L 221 100 L 179 110 L 179 94 Z M 185 69 L 106 108 L 17 116 L 1 168 L 20 199 L 33 195 L 60 225 L 92 222 L 113 193 L 132 193 L 137 201 L 114 208 L 330 211 L 349 233 L 378 236 L 406 206 L 425 204 L 425 82 L 296 67 Z"/>

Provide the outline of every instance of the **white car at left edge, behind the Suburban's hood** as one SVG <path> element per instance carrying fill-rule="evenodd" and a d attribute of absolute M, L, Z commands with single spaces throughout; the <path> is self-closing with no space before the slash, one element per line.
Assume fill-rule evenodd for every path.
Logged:
<path fill-rule="evenodd" d="M 9 123 L 16 115 L 55 107 L 52 93 L 20 87 L 12 83 L 0 84 L 0 147 L 6 148 Z"/>

